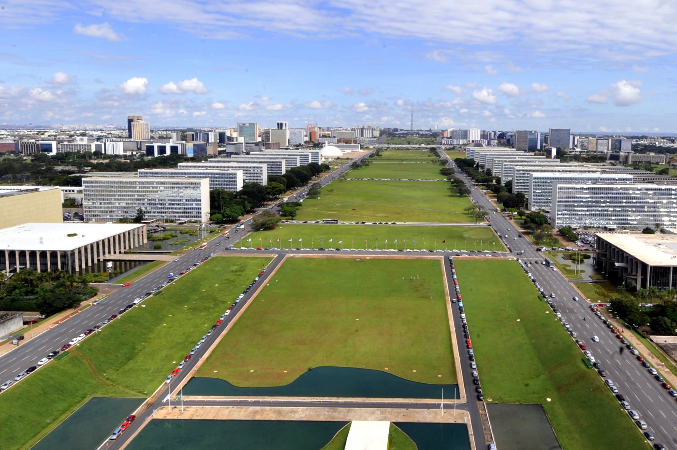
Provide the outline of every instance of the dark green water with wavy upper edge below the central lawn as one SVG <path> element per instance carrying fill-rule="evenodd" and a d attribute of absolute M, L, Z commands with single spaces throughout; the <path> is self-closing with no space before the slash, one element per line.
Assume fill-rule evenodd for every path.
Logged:
<path fill-rule="evenodd" d="M 380 370 L 318 367 L 284 386 L 238 387 L 219 378 L 192 378 L 183 395 L 229 397 L 363 397 L 401 399 L 458 398 L 458 384 L 427 384 Z"/>

